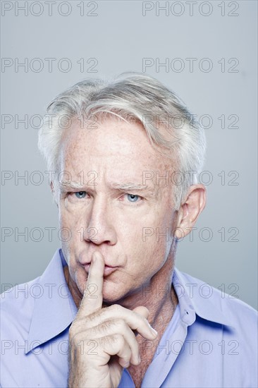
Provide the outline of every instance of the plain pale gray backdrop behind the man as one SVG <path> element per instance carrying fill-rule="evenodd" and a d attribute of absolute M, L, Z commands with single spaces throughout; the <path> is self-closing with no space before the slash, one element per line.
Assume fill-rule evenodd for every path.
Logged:
<path fill-rule="evenodd" d="M 57 209 L 44 174 L 47 168 L 37 151 L 39 120 L 25 128 L 17 119 L 25 114 L 28 121 L 35 114 L 43 116 L 56 94 L 85 77 L 142 71 L 144 58 L 151 58 L 149 63 L 168 61 L 169 66 L 150 66 L 147 73 L 177 92 L 198 118 L 212 118 L 210 126 L 205 116 L 202 122 L 210 127 L 205 130 L 204 165 L 210 176 L 203 176 L 204 180 L 212 176 L 207 207 L 192 241 L 188 237 L 180 242 L 176 265 L 257 308 L 257 1 L 198 1 L 192 12 L 185 1 L 169 1 L 168 10 L 160 12 L 156 1 L 149 1 L 147 6 L 153 9 L 145 16 L 142 1 L 85 1 L 84 16 L 78 7 L 82 1 L 56 1 L 52 16 L 44 1 L 33 6 L 28 1 L 27 16 L 15 3 L 24 6 L 25 2 L 1 2 L 2 61 L 13 61 L 1 72 L 1 169 L 13 174 L 1 181 L 2 291 L 8 284 L 42 274 L 60 245 Z M 3 6 L 13 8 L 5 12 Z M 70 15 L 63 16 L 68 11 Z M 15 61 L 26 58 L 27 72 L 15 68 Z M 43 63 L 41 71 L 37 72 L 35 58 Z M 46 58 L 56 59 L 52 71 Z M 64 58 L 71 64 L 70 71 Z M 77 63 L 82 58 L 84 71 Z M 196 59 L 192 69 L 187 58 Z M 92 73 L 94 63 L 97 72 Z M 210 63 L 211 71 L 205 71 Z M 180 72 L 179 65 L 185 66 Z M 7 114 L 13 121 L 4 125 Z M 221 115 L 225 115 L 225 128 Z M 238 128 L 231 128 L 235 117 Z M 39 175 L 33 171 L 42 171 L 42 184 L 35 184 Z M 15 180 L 24 174 L 27 182 Z M 56 228 L 52 241 L 45 229 L 49 227 Z M 4 236 L 6 228 L 11 236 Z M 18 236 L 25 228 L 27 241 Z"/>

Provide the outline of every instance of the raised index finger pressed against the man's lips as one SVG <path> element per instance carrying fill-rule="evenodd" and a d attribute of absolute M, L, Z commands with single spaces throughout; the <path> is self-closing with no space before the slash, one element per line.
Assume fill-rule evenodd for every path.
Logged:
<path fill-rule="evenodd" d="M 104 257 L 99 252 L 92 254 L 89 275 L 78 315 L 87 316 L 102 308 L 104 283 Z"/>

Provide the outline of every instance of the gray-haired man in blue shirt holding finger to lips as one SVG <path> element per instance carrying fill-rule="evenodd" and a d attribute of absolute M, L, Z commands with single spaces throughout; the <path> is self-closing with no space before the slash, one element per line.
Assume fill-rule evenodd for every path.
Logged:
<path fill-rule="evenodd" d="M 1 387 L 257 387 L 257 313 L 174 267 L 205 206 L 204 149 L 146 75 L 51 102 L 39 150 L 61 250 L 27 297 L 2 295 Z"/>

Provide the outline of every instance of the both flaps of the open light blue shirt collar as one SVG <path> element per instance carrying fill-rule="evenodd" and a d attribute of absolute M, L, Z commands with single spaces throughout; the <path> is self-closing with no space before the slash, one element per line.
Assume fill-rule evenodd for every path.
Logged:
<path fill-rule="evenodd" d="M 39 344 L 44 344 L 49 339 L 56 337 L 75 319 L 78 309 L 63 274 L 65 265 L 66 260 L 61 249 L 56 250 L 37 283 L 32 282 L 30 285 L 39 291 L 37 298 L 35 298 L 28 334 L 29 350 L 26 353 L 29 353 Z M 172 283 L 178 296 L 180 317 L 186 325 L 192 325 L 197 314 L 204 320 L 233 327 L 232 322 L 225 317 L 218 307 L 219 303 L 216 302 L 218 295 L 214 296 L 212 292 L 210 298 L 204 298 L 202 293 L 199 293 L 200 288 L 203 289 L 204 283 L 202 281 L 183 274 L 175 268 Z M 35 297 L 35 293 L 33 291 L 30 295 Z"/>

